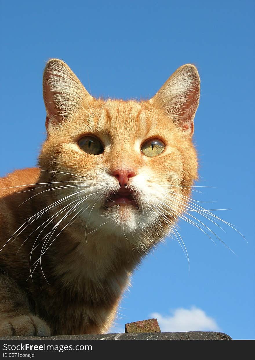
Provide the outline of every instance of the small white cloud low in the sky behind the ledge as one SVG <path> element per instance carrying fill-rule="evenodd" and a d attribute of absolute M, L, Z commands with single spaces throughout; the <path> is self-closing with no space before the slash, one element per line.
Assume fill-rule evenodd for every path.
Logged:
<path fill-rule="evenodd" d="M 171 311 L 172 315 L 162 316 L 153 312 L 162 332 L 179 331 L 219 331 L 216 321 L 207 316 L 205 311 L 192 306 L 191 309 L 178 308 Z"/>

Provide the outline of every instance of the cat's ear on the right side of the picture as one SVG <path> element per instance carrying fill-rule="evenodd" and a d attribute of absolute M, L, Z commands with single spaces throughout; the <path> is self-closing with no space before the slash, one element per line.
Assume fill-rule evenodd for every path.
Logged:
<path fill-rule="evenodd" d="M 188 135 L 194 132 L 194 117 L 199 103 L 200 78 L 196 67 L 179 67 L 153 96 L 151 103 L 162 108 Z"/>

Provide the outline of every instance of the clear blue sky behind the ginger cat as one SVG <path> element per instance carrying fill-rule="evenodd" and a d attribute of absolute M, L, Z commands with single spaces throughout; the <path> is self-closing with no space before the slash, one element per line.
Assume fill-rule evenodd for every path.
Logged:
<path fill-rule="evenodd" d="M 167 238 L 135 272 L 112 331 L 157 316 L 165 331 L 220 329 L 255 338 L 254 10 L 247 0 L 1 1 L 0 176 L 36 164 L 49 58 L 63 59 L 92 95 L 105 98 L 153 96 L 185 63 L 200 73 L 196 185 L 211 187 L 194 188 L 202 193 L 193 197 L 215 201 L 207 209 L 231 208 L 215 214 L 247 242 L 205 219 L 234 255 L 214 235 L 215 244 L 180 221 L 190 270 L 178 242 Z"/>

